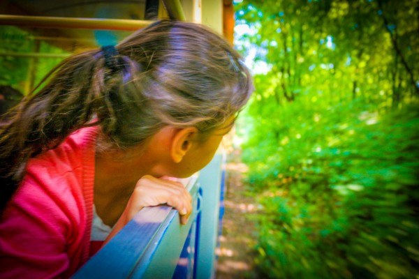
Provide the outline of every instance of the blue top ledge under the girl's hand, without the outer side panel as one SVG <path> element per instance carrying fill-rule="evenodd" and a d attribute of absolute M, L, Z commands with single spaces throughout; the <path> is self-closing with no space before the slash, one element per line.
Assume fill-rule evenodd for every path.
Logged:
<path fill-rule="evenodd" d="M 196 225 L 197 179 L 192 176 L 186 185 L 193 198 L 186 225 L 180 225 L 170 206 L 145 207 L 72 278 L 172 278 L 189 230 Z"/>

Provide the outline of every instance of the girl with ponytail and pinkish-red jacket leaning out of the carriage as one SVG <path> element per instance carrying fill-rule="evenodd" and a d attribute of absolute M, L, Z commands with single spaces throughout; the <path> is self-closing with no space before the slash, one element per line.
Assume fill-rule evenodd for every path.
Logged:
<path fill-rule="evenodd" d="M 144 206 L 169 204 L 186 223 L 191 197 L 163 177 L 209 163 L 252 91 L 225 40 L 170 21 L 71 56 L 46 80 L 0 130 L 2 278 L 71 276 L 91 239 Z"/>

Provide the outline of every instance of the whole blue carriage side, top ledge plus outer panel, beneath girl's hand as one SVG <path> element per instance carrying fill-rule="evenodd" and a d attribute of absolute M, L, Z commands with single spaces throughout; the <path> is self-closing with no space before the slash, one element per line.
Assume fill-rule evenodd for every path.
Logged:
<path fill-rule="evenodd" d="M 186 225 L 170 206 L 142 209 L 73 278 L 214 278 L 221 163 L 214 156 L 187 183 L 193 213 Z"/>

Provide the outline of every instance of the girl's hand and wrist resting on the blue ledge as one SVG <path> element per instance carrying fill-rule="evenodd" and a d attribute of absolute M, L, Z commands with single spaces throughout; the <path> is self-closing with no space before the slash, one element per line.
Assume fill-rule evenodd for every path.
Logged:
<path fill-rule="evenodd" d="M 105 243 L 112 239 L 143 207 L 159 204 L 168 204 L 174 207 L 179 211 L 180 222 L 183 225 L 188 223 L 192 213 L 192 197 L 185 186 L 177 181 L 145 175 L 135 185 L 124 212 L 106 238 Z"/>

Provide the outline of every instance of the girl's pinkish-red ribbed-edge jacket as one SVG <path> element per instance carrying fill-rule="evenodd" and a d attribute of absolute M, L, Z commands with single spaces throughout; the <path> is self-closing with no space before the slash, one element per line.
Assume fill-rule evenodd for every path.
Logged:
<path fill-rule="evenodd" d="M 0 221 L 0 278 L 67 278 L 89 258 L 97 127 L 29 160 Z"/>

